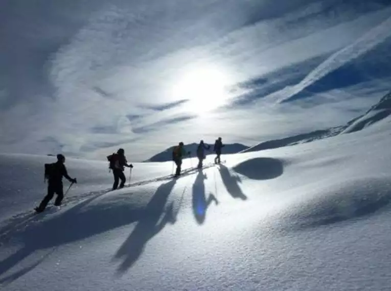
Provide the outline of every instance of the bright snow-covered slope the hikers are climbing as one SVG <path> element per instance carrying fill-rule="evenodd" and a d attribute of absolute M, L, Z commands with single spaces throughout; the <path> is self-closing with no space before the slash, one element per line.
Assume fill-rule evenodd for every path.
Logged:
<path fill-rule="evenodd" d="M 389 290 L 390 142 L 381 123 L 222 165 L 210 156 L 177 180 L 171 162 L 135 163 L 112 192 L 106 162 L 67 159 L 79 184 L 39 215 L 53 157 L 3 155 L 0 286 Z"/>

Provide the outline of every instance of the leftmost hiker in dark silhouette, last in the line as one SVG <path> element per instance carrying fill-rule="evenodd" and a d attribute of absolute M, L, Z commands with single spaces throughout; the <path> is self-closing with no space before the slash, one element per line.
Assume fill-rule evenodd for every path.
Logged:
<path fill-rule="evenodd" d="M 57 198 L 54 202 L 54 205 L 61 205 L 62 199 L 64 198 L 62 177 L 65 177 L 71 183 L 77 183 L 76 179 L 72 179 L 70 176 L 68 176 L 64 163 L 65 157 L 61 154 L 58 154 L 57 162 L 45 165 L 49 168 L 48 172 L 45 171 L 45 178 L 48 179 L 48 195 L 45 196 L 39 206 L 35 208 L 36 212 L 39 213 L 45 210 L 46 206 L 48 205 L 49 201 L 52 200 L 55 193 L 57 194 Z"/>

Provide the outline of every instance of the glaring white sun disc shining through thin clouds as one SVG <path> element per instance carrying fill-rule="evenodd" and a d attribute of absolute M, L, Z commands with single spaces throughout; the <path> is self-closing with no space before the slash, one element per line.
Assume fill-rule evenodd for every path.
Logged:
<path fill-rule="evenodd" d="M 228 99 L 226 87 L 229 77 L 224 71 L 212 65 L 186 69 L 172 87 L 176 100 L 186 99 L 187 108 L 197 114 L 211 111 L 224 105 Z"/>

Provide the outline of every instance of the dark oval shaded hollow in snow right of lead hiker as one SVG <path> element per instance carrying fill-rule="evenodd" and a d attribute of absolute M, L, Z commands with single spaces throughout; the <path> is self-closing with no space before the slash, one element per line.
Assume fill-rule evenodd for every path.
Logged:
<path fill-rule="evenodd" d="M 274 179 L 284 172 L 282 161 L 273 158 L 249 159 L 236 165 L 233 169 L 235 172 L 254 180 Z"/>

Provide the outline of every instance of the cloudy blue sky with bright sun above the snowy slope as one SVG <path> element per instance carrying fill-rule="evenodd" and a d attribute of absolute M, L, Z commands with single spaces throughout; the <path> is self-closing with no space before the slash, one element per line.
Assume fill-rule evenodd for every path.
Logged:
<path fill-rule="evenodd" d="M 389 91 L 386 0 L 5 0 L 0 152 L 145 160 L 341 125 Z"/>

